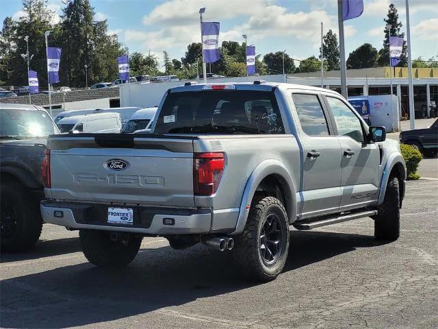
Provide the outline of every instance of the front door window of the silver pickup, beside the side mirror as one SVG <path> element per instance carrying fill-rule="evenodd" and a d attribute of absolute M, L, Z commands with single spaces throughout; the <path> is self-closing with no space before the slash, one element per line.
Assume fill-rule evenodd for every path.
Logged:
<path fill-rule="evenodd" d="M 327 97 L 329 106 L 337 126 L 339 136 L 349 136 L 359 143 L 363 143 L 363 131 L 359 118 L 340 99 Z"/>

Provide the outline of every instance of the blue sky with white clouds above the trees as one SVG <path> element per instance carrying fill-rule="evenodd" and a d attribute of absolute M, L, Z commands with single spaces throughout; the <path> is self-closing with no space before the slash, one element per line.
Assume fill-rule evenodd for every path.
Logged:
<path fill-rule="evenodd" d="M 62 2 L 49 0 L 59 20 Z M 154 53 L 162 51 L 180 59 L 191 42 L 200 42 L 198 10 L 205 7 L 204 21 L 220 22 L 220 42 L 242 42 L 256 53 L 283 51 L 298 60 L 318 56 L 321 22 L 324 34 L 337 34 L 336 0 L 90 0 L 96 12 L 94 19 L 106 19 L 111 34 L 117 34 L 129 51 Z M 363 14 L 344 22 L 346 57 L 348 53 L 371 43 L 376 49 L 383 44 L 383 29 L 389 3 L 398 8 L 406 32 L 405 0 L 363 0 Z M 21 0 L 0 0 L 0 19 L 23 16 Z M 428 59 L 438 55 L 438 0 L 409 0 L 413 58 Z M 298 63 L 297 63 L 298 64 Z"/>

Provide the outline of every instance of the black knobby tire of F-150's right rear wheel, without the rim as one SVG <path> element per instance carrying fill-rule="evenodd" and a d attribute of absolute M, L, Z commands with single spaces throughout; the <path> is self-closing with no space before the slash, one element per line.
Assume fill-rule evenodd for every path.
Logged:
<path fill-rule="evenodd" d="M 280 230 L 283 239 L 281 243 L 281 254 L 276 262 L 267 266 L 263 262 L 260 248 L 260 234 L 267 216 L 274 213 L 279 217 Z M 250 208 L 244 231 L 235 236 L 233 248 L 233 262 L 235 267 L 240 269 L 242 276 L 250 280 L 267 282 L 274 280 L 287 260 L 289 249 L 289 223 L 286 210 L 275 197 L 255 197 Z"/>

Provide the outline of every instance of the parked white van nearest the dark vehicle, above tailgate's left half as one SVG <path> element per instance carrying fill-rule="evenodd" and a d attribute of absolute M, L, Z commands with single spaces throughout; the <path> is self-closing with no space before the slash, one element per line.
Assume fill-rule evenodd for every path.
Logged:
<path fill-rule="evenodd" d="M 122 129 L 120 114 L 95 113 L 74 115 L 57 122 L 61 133 L 66 132 L 107 132 L 118 133 Z"/>

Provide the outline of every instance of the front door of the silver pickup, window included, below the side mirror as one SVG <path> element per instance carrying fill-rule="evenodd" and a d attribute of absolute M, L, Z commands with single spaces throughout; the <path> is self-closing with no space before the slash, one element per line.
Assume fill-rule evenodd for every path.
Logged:
<path fill-rule="evenodd" d="M 340 211 L 362 208 L 378 201 L 380 151 L 368 143 L 359 115 L 337 97 L 326 96 L 337 138 L 342 147 Z"/>

